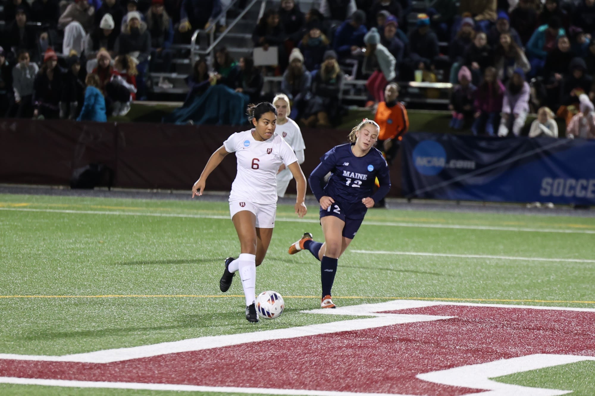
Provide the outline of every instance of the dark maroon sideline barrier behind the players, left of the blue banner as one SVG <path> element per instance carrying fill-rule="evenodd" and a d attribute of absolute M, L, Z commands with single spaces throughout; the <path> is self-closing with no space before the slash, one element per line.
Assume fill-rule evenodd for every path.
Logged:
<path fill-rule="evenodd" d="M 0 183 L 69 185 L 77 169 L 102 164 L 112 186 L 190 190 L 209 156 L 230 134 L 248 129 L 222 125 L 0 120 Z M 302 130 L 306 177 L 327 150 L 347 142 L 346 130 Z M 207 190 L 229 191 L 236 176 L 233 155 L 209 176 Z M 400 162 L 399 162 L 400 164 Z M 400 193 L 393 166 L 391 196 Z M 290 183 L 287 193 L 295 193 Z"/>

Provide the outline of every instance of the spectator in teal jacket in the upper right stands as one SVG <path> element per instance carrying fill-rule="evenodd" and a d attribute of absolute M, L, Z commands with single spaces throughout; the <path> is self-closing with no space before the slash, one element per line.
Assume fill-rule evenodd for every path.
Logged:
<path fill-rule="evenodd" d="M 531 63 L 531 75 L 529 77 L 536 76 L 543 69 L 547 53 L 558 46 L 558 37 L 566 34 L 561 26 L 560 18 L 552 17 L 549 24 L 538 27 L 531 39 L 529 39 L 527 48 L 525 48 L 527 58 Z"/>

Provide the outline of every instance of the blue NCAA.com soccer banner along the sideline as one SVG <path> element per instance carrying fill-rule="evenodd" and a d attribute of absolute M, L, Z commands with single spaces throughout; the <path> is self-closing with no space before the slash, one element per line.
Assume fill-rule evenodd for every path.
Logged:
<path fill-rule="evenodd" d="M 595 205 L 595 140 L 408 133 L 408 198 Z"/>

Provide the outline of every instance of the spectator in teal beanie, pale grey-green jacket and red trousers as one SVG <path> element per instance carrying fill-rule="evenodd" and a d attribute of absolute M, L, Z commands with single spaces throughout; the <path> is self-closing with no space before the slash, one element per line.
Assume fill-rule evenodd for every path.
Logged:
<path fill-rule="evenodd" d="M 380 34 L 375 27 L 365 35 L 364 42 L 366 52 L 362 73 L 369 75 L 366 87 L 374 102 L 367 104 L 372 106 L 374 103 L 384 101 L 384 87 L 396 78 L 397 61 L 389 50 L 380 44 Z"/>

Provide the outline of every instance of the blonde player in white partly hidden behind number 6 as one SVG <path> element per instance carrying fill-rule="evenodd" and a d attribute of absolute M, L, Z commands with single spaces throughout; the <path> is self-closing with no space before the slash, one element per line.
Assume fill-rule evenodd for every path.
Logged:
<path fill-rule="evenodd" d="M 273 106 L 277 109 L 277 129 L 275 133 L 283 136 L 283 139 L 292 147 L 293 152 L 296 153 L 297 163 L 302 165 L 305 157 L 303 150 L 306 145 L 303 143 L 302 131 L 299 126 L 287 114 L 291 112 L 289 106 L 289 98 L 284 93 L 280 93 L 273 99 Z M 284 164 L 279 167 L 277 174 L 277 195 L 285 196 L 285 191 L 289 182 L 293 179 L 292 172 L 286 168 Z"/>

